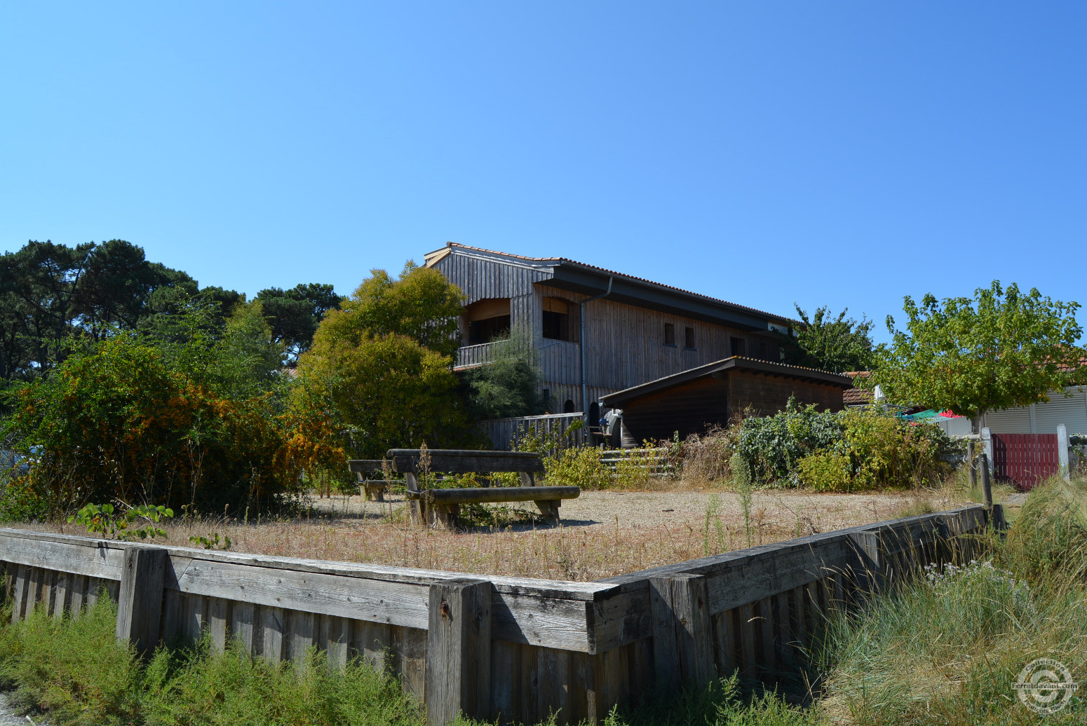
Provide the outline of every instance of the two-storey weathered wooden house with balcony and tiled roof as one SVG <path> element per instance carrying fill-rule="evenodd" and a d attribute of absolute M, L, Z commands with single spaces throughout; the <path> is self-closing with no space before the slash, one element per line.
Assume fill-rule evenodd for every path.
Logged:
<path fill-rule="evenodd" d="M 530 333 L 553 413 L 586 411 L 609 393 L 739 355 L 780 360 L 780 315 L 564 258 L 526 258 L 448 243 L 426 255 L 466 297 L 457 368 L 480 365 L 499 334 Z M 840 405 L 841 393 L 838 391 Z"/>

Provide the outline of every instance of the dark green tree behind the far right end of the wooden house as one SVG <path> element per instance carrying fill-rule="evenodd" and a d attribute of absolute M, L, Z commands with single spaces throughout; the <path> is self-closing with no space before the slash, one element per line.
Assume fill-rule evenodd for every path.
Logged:
<path fill-rule="evenodd" d="M 826 306 L 817 308 L 809 318 L 808 313 L 794 303 L 801 326 L 796 337 L 780 335 L 785 362 L 809 368 L 845 373 L 867 371 L 873 363 L 873 322 L 846 318 L 849 309 L 835 317 Z"/>

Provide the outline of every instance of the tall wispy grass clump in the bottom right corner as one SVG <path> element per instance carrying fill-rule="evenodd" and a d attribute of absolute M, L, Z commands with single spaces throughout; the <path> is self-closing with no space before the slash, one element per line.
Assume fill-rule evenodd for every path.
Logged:
<path fill-rule="evenodd" d="M 926 576 L 832 624 L 820 710 L 858 724 L 1038 723 L 1012 685 L 1051 658 L 1087 677 L 1087 486 L 1032 492 L 991 559 Z M 1084 723 L 1073 697 L 1047 723 Z"/>

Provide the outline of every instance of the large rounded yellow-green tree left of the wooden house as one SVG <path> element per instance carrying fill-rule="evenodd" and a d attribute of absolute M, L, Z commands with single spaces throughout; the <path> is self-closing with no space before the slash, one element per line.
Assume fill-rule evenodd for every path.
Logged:
<path fill-rule="evenodd" d="M 409 263 L 396 280 L 373 271 L 299 358 L 292 409 L 350 431 L 360 456 L 473 439 L 450 358 L 461 298 L 433 270 Z"/>

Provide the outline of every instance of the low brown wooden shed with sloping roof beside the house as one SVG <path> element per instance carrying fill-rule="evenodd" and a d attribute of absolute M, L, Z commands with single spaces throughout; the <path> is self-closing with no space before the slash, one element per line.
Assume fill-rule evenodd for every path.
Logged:
<path fill-rule="evenodd" d="M 841 392 L 850 386 L 848 376 L 733 356 L 604 396 L 602 403 L 623 410 L 623 446 L 632 447 L 675 431 L 680 438 L 701 434 L 746 409 L 771 415 L 790 397 L 841 411 Z"/>

